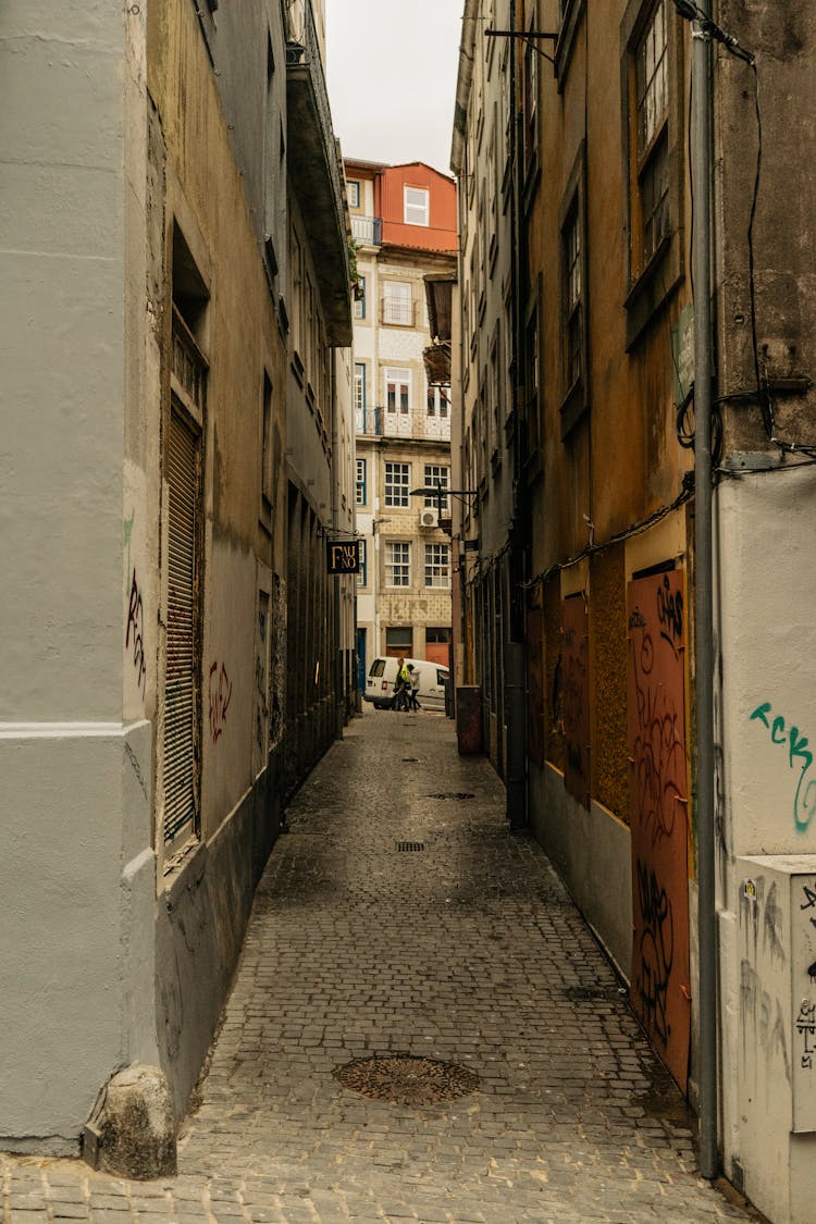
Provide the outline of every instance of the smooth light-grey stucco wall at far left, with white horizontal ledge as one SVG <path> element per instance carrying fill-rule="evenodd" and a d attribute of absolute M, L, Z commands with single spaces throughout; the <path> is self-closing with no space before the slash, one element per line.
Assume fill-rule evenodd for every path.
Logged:
<path fill-rule="evenodd" d="M 150 1051 L 146 745 L 121 726 L 130 24 L 100 2 L 0 12 L 0 1137 L 38 1151 L 75 1152 L 99 1086 Z"/>

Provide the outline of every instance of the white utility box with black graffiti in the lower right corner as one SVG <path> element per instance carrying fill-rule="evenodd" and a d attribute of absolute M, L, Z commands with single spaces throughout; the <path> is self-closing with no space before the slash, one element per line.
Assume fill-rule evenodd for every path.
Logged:
<path fill-rule="evenodd" d="M 816 856 L 738 858 L 735 869 L 745 1192 L 778 1224 L 812 1220 Z"/>

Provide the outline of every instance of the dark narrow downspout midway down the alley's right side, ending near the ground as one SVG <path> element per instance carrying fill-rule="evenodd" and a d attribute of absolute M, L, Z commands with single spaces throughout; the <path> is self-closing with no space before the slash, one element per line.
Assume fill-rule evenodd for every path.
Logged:
<path fill-rule="evenodd" d="M 516 28 L 516 2 L 510 0 L 510 29 Z M 526 711 L 526 667 L 524 646 L 524 540 L 522 525 L 526 517 L 522 513 L 524 472 L 521 470 L 521 421 L 519 399 L 521 392 L 521 269 L 526 258 L 526 241 L 521 225 L 521 162 L 519 158 L 519 115 L 516 106 L 516 70 L 517 55 L 515 47 L 510 48 L 510 160 L 513 165 L 513 191 L 510 192 L 510 235 L 513 241 L 513 259 L 510 263 L 510 302 L 513 310 L 513 354 L 510 359 L 510 386 L 513 392 L 513 518 L 510 521 L 510 624 L 506 643 L 506 714 L 508 714 L 508 785 L 506 816 L 510 829 L 526 829 L 527 814 L 527 711 Z M 524 251 L 522 251 L 524 245 Z"/>

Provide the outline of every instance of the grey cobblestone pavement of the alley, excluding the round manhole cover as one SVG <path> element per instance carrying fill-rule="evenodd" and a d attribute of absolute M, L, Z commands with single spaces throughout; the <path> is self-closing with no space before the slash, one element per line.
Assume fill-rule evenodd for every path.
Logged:
<path fill-rule="evenodd" d="M 618 979 L 448 720 L 365 712 L 289 821 L 179 1175 L 0 1158 L 5 1222 L 751 1218 L 697 1176 L 691 1120 Z M 405 1105 L 335 1077 L 394 1054 L 478 1087 Z"/>

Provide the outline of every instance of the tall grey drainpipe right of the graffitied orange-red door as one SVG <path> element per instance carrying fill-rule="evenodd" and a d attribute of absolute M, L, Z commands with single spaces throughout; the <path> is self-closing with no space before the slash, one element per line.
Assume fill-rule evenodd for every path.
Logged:
<path fill-rule="evenodd" d="M 711 16 L 711 0 L 697 0 Z M 697 701 L 697 883 L 700 955 L 700 1171 L 713 1180 L 717 1155 L 717 897 L 714 886 L 714 717 L 712 561 L 711 39 L 694 22 L 691 160 L 695 405 L 695 681 Z"/>

